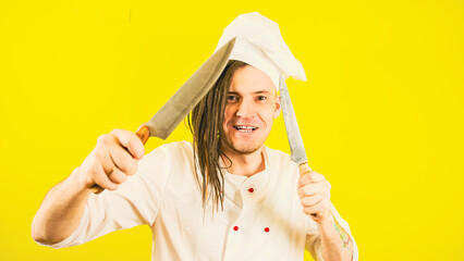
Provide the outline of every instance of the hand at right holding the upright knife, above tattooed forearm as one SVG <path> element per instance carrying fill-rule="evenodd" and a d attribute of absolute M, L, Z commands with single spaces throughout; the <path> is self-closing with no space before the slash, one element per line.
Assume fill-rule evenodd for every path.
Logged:
<path fill-rule="evenodd" d="M 300 177 L 298 196 L 303 211 L 319 224 L 330 222 L 330 183 L 322 174 L 308 171 Z"/>

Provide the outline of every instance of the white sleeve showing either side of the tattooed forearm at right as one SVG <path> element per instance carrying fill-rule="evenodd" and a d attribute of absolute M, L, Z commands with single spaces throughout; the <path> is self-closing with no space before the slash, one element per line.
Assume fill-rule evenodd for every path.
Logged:
<path fill-rule="evenodd" d="M 342 219 L 342 216 L 337 211 L 335 207 L 331 204 L 331 211 L 333 215 L 335 216 L 339 224 L 343 227 L 343 229 L 350 234 L 351 239 L 353 240 L 353 260 L 352 261 L 358 261 L 358 251 L 357 251 L 357 245 L 354 240 L 353 235 L 351 234 L 350 225 L 349 223 Z M 320 234 L 319 228 L 317 226 L 317 223 L 313 221 L 309 216 L 307 216 L 307 229 L 306 229 L 306 250 L 309 251 L 313 259 L 316 261 L 323 261 L 322 258 L 322 251 L 321 251 L 321 241 L 320 241 Z"/>

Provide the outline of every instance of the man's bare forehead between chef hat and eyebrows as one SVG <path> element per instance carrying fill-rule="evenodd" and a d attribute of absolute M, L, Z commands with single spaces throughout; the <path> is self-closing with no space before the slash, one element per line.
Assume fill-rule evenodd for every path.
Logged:
<path fill-rule="evenodd" d="M 239 94 L 269 91 L 276 94 L 276 87 L 272 79 L 261 70 L 245 65 L 234 72 L 229 91 Z"/>

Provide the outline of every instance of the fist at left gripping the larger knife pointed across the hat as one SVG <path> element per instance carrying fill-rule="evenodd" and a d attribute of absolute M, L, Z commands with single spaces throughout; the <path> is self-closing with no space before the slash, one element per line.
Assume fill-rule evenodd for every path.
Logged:
<path fill-rule="evenodd" d="M 97 184 L 114 190 L 137 172 L 137 160 L 144 154 L 144 144 L 135 133 L 115 128 L 98 137 L 97 146 L 73 174 L 85 188 Z"/>

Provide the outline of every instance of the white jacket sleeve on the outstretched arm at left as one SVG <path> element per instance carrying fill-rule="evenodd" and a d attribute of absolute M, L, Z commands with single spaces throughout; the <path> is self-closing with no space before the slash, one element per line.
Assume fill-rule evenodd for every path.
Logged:
<path fill-rule="evenodd" d="M 172 157 L 167 145 L 146 154 L 137 162 L 137 173 L 130 176 L 117 190 L 90 195 L 81 223 L 73 234 L 48 246 L 72 247 L 113 231 L 142 224 L 151 226 L 163 200 L 171 163 Z"/>

